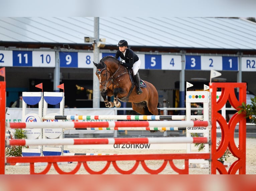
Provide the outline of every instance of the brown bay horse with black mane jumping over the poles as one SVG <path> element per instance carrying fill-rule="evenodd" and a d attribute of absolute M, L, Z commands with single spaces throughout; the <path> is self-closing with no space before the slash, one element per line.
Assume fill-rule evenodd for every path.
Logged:
<path fill-rule="evenodd" d="M 144 82 L 146 87 L 137 95 L 136 85 L 133 80 L 132 70 L 123 66 L 115 57 L 106 56 L 96 66 L 96 75 L 100 83 L 101 96 L 106 107 L 120 107 L 121 102 L 131 102 L 132 109 L 142 115 L 159 115 L 158 93 L 156 88 L 149 82 Z M 108 101 L 107 96 L 114 95 L 114 103 Z"/>

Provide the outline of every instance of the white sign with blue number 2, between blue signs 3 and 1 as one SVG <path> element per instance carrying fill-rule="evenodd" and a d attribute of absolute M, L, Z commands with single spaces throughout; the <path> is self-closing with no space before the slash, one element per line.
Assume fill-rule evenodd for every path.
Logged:
<path fill-rule="evenodd" d="M 222 70 L 222 57 L 201 56 L 201 70 Z"/>

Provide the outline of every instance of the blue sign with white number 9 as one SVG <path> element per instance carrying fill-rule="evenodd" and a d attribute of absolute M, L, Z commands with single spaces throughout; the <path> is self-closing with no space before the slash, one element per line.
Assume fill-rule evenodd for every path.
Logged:
<path fill-rule="evenodd" d="M 78 54 L 77 52 L 60 52 L 59 62 L 60 62 L 60 67 L 62 68 L 77 68 Z"/>

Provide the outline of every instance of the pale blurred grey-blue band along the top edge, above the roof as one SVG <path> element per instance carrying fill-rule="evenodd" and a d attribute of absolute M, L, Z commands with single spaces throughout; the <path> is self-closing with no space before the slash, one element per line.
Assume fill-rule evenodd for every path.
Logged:
<path fill-rule="evenodd" d="M 0 0 L 1 17 L 255 17 L 254 0 Z"/>

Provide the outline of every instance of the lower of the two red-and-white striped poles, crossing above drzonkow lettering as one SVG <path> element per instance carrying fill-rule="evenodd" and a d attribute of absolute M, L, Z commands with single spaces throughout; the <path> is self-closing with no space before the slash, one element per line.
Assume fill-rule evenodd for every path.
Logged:
<path fill-rule="evenodd" d="M 6 139 L 6 146 L 21 145 L 87 145 L 87 144 L 159 144 L 159 143 L 209 143 L 209 137 L 145 137 L 102 139 Z"/>

